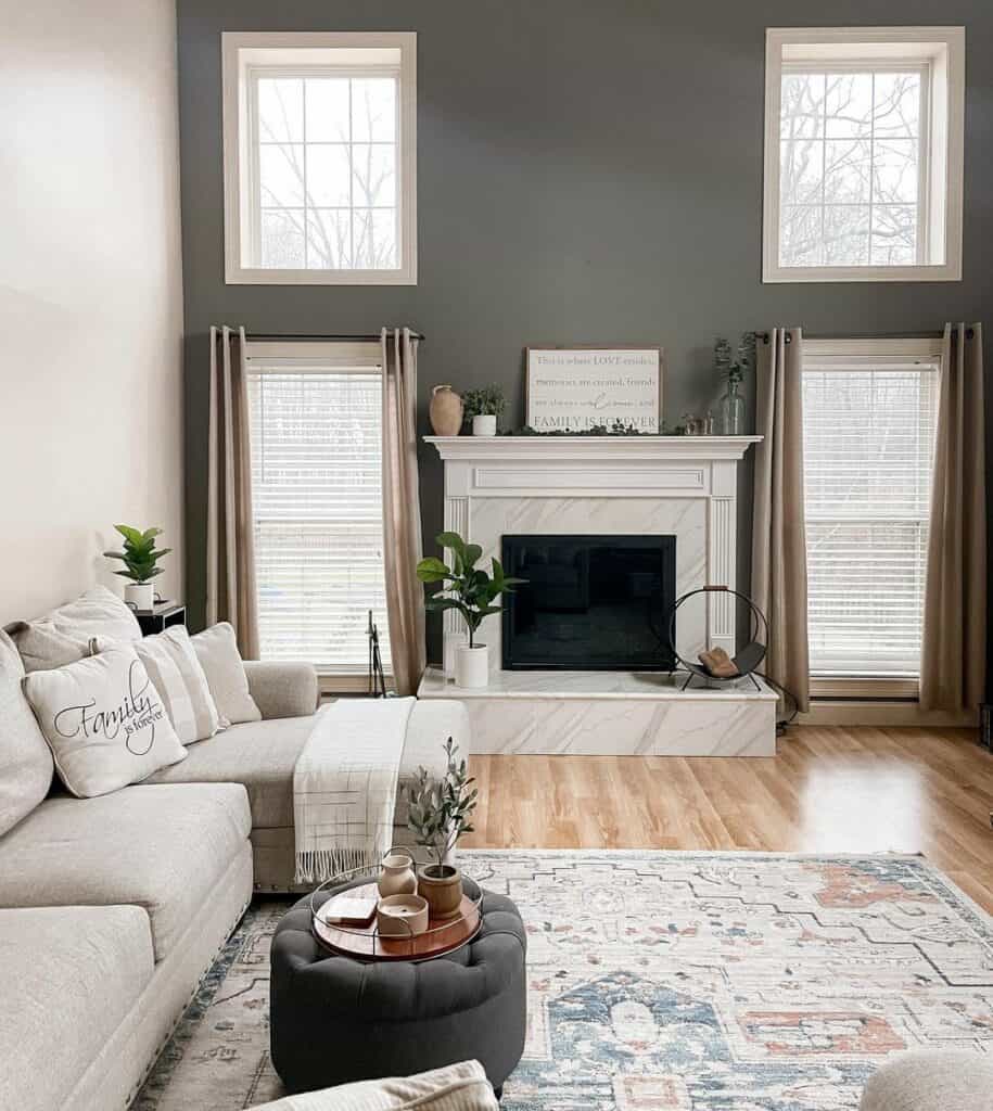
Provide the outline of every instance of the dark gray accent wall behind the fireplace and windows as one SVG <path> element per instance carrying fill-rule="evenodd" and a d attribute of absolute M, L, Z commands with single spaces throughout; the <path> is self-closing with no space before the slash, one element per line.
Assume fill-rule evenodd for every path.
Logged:
<path fill-rule="evenodd" d="M 966 27 L 963 281 L 763 286 L 765 28 L 892 23 Z M 418 32 L 415 287 L 224 284 L 224 30 Z M 815 336 L 920 334 L 993 306 L 989 0 L 179 0 L 179 40 L 193 622 L 204 598 L 211 323 L 420 329 L 427 432 L 437 382 L 501 382 L 510 421 L 522 423 L 529 343 L 663 346 L 665 417 L 678 423 L 720 394 L 715 334 L 776 323 Z M 750 468 L 742 484 L 746 583 Z M 423 446 L 421 501 L 430 544 L 441 464 Z M 431 641 L 437 655 L 437 629 Z"/>

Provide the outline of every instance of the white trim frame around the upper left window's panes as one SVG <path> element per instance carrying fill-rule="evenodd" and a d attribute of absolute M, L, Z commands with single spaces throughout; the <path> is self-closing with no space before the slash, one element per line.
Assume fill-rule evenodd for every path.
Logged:
<path fill-rule="evenodd" d="M 418 78 L 415 31 L 224 31 L 221 34 L 224 132 L 224 281 L 229 286 L 417 286 L 418 283 Z M 252 51 L 285 50 L 288 67 L 319 63 L 307 51 L 400 50 L 398 113 L 400 267 L 395 270 L 283 270 L 245 267 L 254 184 L 245 92 L 258 64 Z M 354 72 L 358 74 L 359 69 Z"/>

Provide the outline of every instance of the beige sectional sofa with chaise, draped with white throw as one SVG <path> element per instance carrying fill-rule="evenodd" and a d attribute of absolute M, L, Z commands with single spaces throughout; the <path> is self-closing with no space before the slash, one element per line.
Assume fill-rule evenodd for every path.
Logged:
<path fill-rule="evenodd" d="M 253 888 L 292 887 L 293 765 L 317 678 L 247 672 L 262 721 L 112 794 L 43 797 L 51 755 L 0 632 L 0 1108 L 126 1109 Z M 467 730 L 459 703 L 418 703 L 401 779 Z M 402 802 L 397 823 L 409 840 Z"/>

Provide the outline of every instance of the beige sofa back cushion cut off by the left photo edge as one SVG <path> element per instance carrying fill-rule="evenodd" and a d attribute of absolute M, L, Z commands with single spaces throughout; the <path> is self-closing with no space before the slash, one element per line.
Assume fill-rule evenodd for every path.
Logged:
<path fill-rule="evenodd" d="M 52 754 L 21 690 L 24 669 L 0 631 L 0 837 L 48 794 Z"/>

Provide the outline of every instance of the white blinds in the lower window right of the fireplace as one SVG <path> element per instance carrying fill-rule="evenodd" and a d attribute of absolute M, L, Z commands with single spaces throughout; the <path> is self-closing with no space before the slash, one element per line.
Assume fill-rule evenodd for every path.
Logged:
<path fill-rule="evenodd" d="M 805 352 L 813 675 L 920 674 L 939 374 L 936 353 Z"/>

